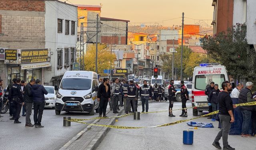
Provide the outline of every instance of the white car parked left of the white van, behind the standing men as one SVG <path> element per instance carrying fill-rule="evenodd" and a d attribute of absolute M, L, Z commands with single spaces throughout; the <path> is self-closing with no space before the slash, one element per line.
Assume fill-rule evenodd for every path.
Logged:
<path fill-rule="evenodd" d="M 44 99 L 45 99 L 44 108 L 55 109 L 56 91 L 54 90 L 54 86 L 44 86 L 44 88 L 48 92 L 47 95 L 44 95 Z"/>

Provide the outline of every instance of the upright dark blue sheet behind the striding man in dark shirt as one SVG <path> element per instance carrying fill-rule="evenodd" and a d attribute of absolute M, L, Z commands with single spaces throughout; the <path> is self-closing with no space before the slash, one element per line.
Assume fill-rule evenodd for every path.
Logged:
<path fill-rule="evenodd" d="M 231 98 L 233 104 L 238 104 L 238 98 Z M 229 135 L 241 135 L 242 133 L 242 123 L 243 117 L 241 110 L 239 108 L 235 108 L 233 110 L 235 121 L 231 123 Z"/>

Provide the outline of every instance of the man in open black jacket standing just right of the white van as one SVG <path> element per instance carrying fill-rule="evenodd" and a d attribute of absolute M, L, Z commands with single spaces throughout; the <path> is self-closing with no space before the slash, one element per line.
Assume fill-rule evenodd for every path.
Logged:
<path fill-rule="evenodd" d="M 108 106 L 108 101 L 110 101 L 109 78 L 103 78 L 103 83 L 100 84 L 100 86 L 98 88 L 97 100 L 98 100 L 98 102 L 100 102 L 99 117 L 102 117 L 102 112 L 103 112 L 103 117 L 107 117 L 106 109 Z"/>

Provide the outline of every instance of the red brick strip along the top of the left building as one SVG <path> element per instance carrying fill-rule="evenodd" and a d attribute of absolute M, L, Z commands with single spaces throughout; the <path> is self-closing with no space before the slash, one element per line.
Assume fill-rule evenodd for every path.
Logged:
<path fill-rule="evenodd" d="M 44 0 L 0 0 L 0 10 L 44 12 Z"/>

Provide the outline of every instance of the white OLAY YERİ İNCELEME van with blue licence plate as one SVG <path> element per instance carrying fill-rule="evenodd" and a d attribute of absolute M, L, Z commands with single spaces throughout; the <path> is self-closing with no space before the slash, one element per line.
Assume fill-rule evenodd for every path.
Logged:
<path fill-rule="evenodd" d="M 57 90 L 55 114 L 61 111 L 99 112 L 98 74 L 92 71 L 66 71 Z"/>

